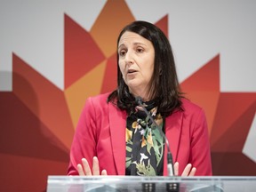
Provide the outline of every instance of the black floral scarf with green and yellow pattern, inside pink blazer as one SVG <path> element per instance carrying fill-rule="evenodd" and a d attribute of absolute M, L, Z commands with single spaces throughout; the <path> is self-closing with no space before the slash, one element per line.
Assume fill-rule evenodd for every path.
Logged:
<path fill-rule="evenodd" d="M 164 119 L 160 114 L 156 114 L 155 102 L 148 101 L 143 105 L 163 130 Z M 163 175 L 164 139 L 159 128 L 140 107 L 136 107 L 130 116 L 127 116 L 125 175 Z"/>

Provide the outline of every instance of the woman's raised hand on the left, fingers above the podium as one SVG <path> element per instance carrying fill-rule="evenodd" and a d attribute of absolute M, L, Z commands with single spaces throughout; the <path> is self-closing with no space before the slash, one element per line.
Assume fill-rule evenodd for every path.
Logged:
<path fill-rule="evenodd" d="M 97 156 L 92 159 L 92 171 L 85 158 L 82 159 L 82 164 L 77 164 L 77 171 L 80 176 L 83 175 L 100 175 L 100 166 Z M 102 170 L 101 175 L 108 175 L 106 170 Z"/>

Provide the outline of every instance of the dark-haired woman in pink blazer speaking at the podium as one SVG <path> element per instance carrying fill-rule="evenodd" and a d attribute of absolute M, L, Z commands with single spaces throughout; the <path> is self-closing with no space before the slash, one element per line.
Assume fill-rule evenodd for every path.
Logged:
<path fill-rule="evenodd" d="M 118 36 L 117 63 L 117 89 L 86 100 L 68 175 L 167 175 L 162 132 L 175 175 L 212 175 L 204 111 L 181 95 L 164 33 L 132 22 Z"/>

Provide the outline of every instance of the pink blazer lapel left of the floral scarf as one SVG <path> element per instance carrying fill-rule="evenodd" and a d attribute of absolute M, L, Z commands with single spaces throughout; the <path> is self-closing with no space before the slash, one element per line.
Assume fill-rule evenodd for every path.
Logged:
<path fill-rule="evenodd" d="M 108 105 L 109 125 L 113 156 L 116 164 L 118 175 L 125 174 L 125 127 L 126 112 L 120 110 L 116 106 Z"/>

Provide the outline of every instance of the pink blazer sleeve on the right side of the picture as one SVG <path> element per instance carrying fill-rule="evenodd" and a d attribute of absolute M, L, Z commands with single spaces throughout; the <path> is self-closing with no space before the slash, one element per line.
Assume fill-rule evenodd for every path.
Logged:
<path fill-rule="evenodd" d="M 195 124 L 191 129 L 189 162 L 196 167 L 197 176 L 210 176 L 212 175 L 212 158 L 204 110 L 201 109 L 195 118 Z"/>

